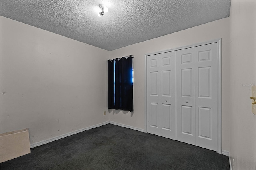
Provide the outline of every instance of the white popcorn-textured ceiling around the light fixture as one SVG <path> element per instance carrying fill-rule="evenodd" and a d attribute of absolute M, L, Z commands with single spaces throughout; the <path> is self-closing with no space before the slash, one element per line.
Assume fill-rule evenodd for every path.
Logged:
<path fill-rule="evenodd" d="M 99 4 L 108 13 L 98 17 Z M 1 0 L 0 15 L 108 51 L 228 17 L 230 0 Z"/>

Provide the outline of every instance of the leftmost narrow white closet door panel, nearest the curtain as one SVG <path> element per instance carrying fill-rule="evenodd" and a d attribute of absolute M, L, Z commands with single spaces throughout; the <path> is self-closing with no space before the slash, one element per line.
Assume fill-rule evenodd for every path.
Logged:
<path fill-rule="evenodd" d="M 160 55 L 147 58 L 147 131 L 160 135 Z"/>

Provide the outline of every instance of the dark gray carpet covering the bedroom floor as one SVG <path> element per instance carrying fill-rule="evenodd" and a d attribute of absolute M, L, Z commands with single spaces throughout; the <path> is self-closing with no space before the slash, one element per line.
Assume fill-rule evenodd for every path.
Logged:
<path fill-rule="evenodd" d="M 1 170 L 229 170 L 228 156 L 104 125 L 38 146 L 0 164 Z"/>

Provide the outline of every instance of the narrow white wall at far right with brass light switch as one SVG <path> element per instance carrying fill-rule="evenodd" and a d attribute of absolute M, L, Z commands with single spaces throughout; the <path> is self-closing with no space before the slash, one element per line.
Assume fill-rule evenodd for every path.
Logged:
<path fill-rule="evenodd" d="M 256 115 L 249 97 L 256 84 L 256 1 L 231 2 L 230 66 L 230 155 L 234 169 L 255 170 Z"/>

